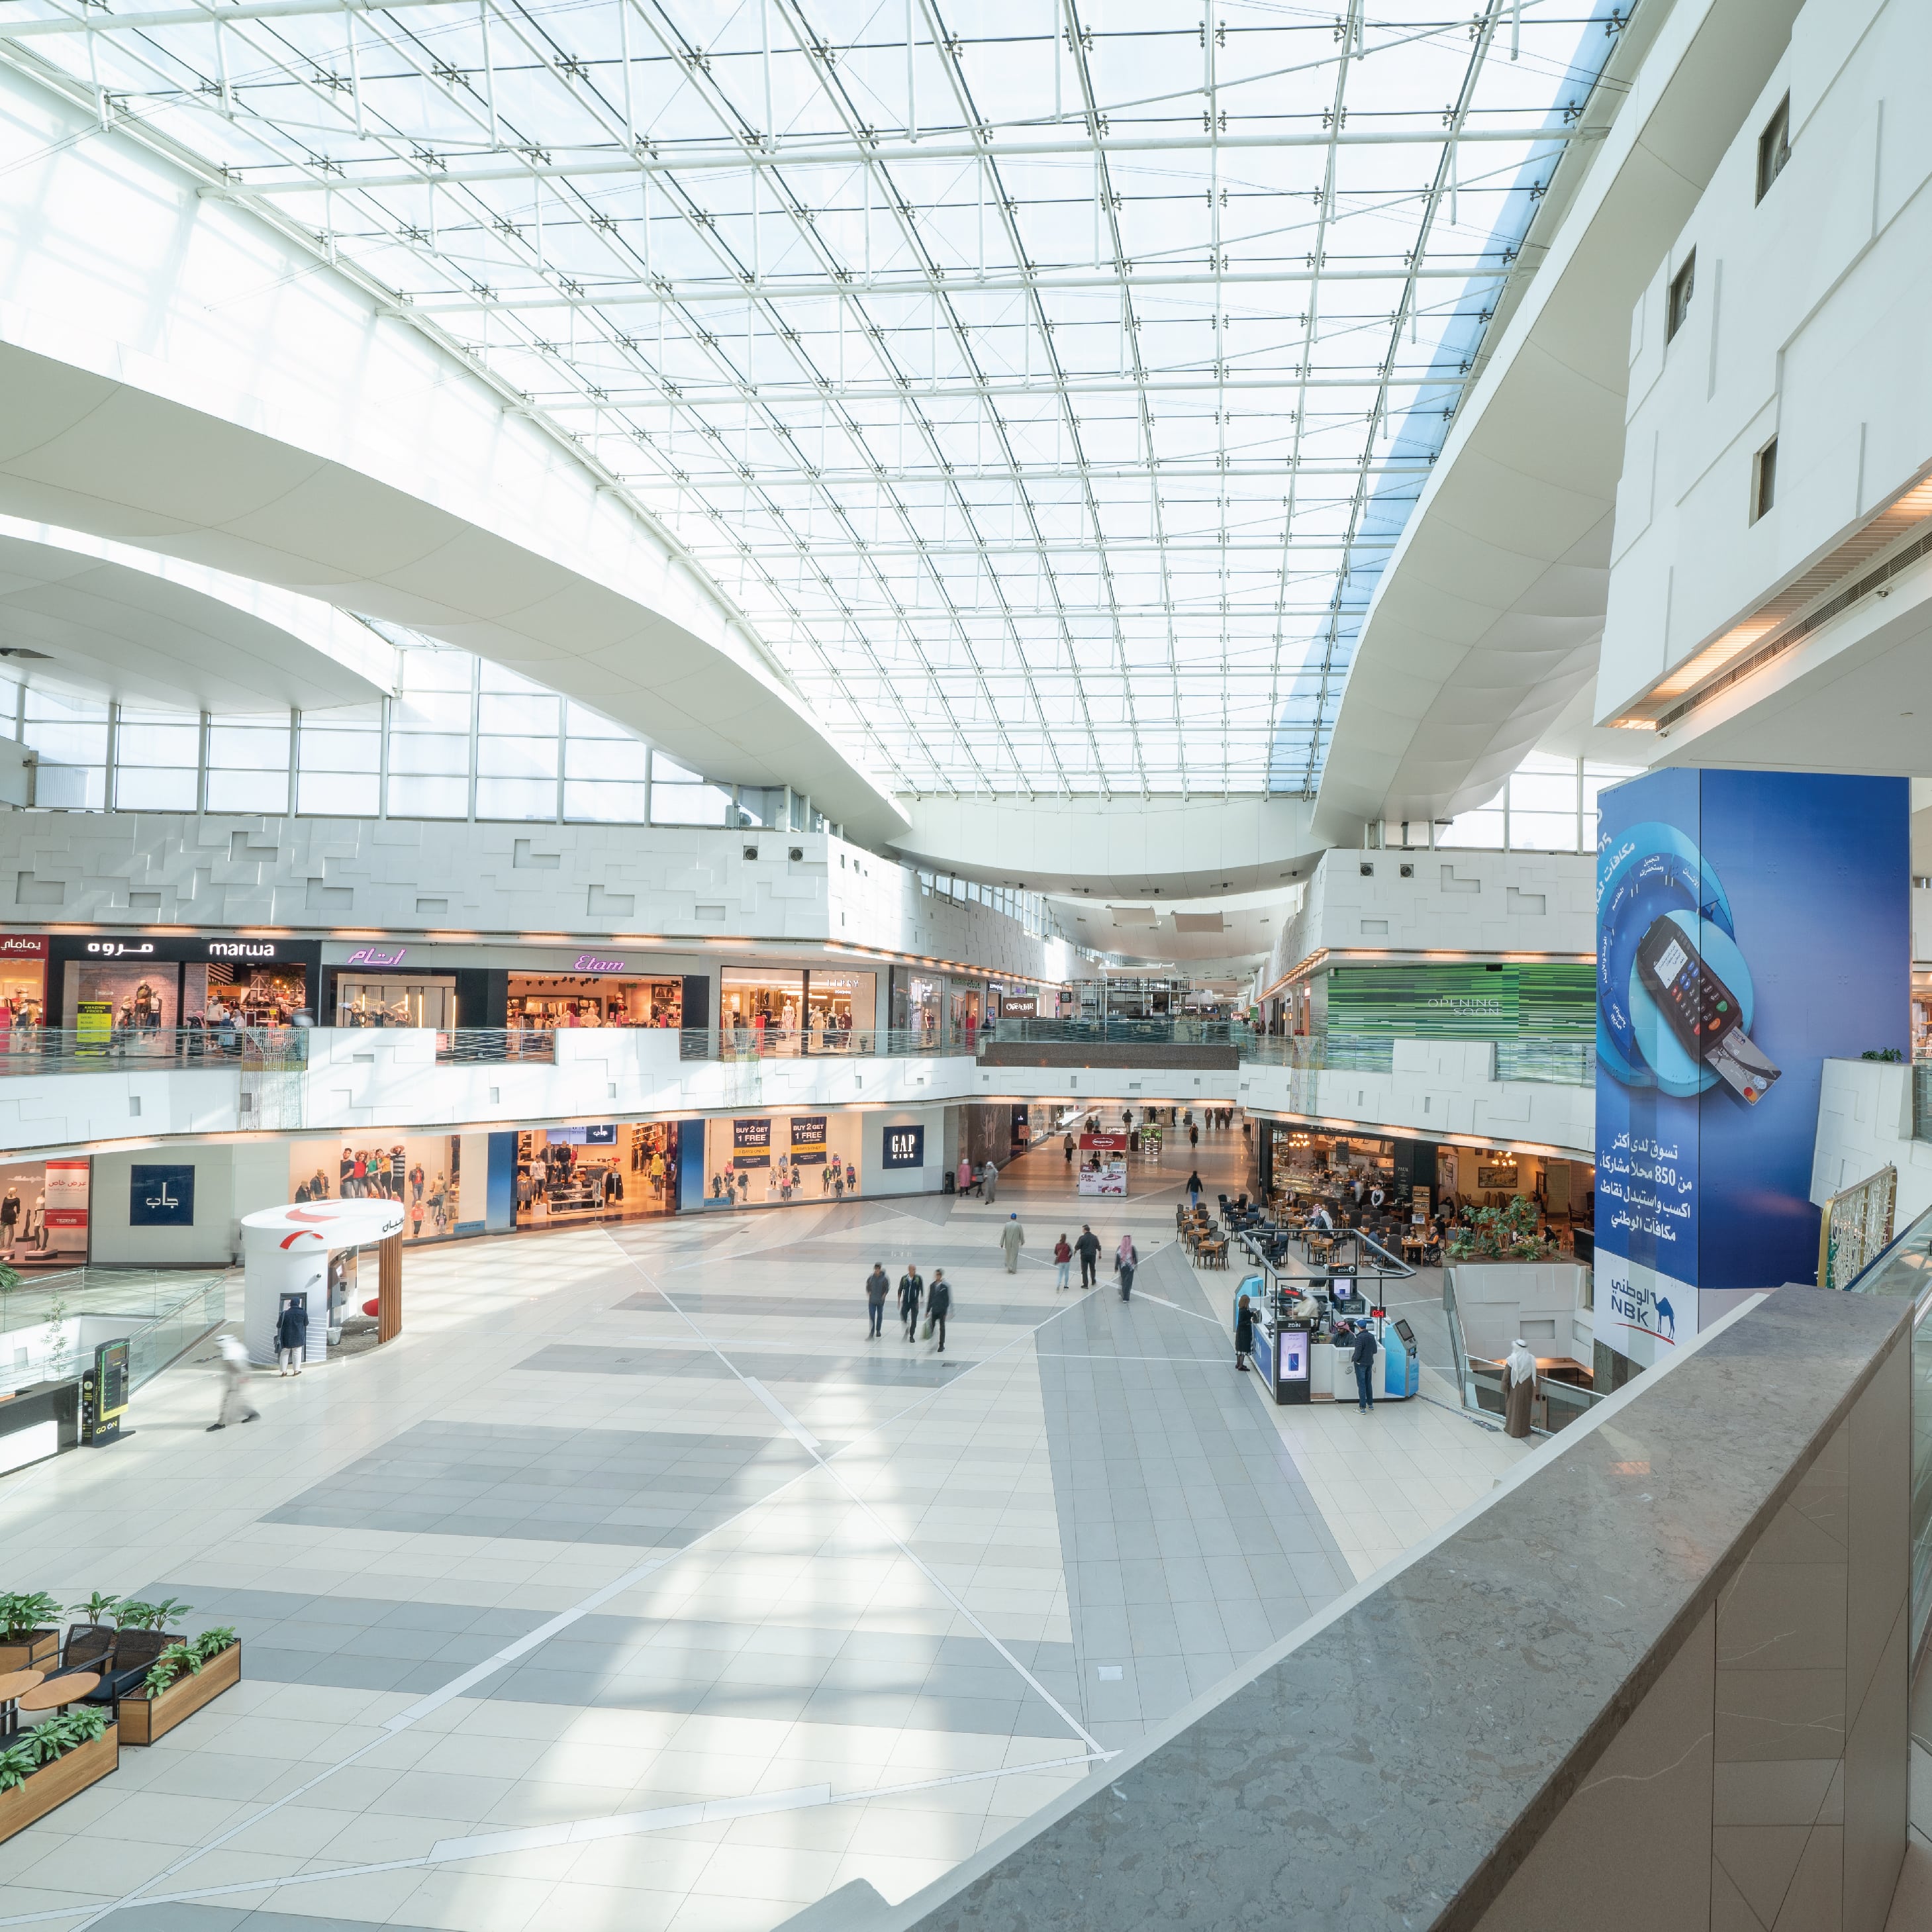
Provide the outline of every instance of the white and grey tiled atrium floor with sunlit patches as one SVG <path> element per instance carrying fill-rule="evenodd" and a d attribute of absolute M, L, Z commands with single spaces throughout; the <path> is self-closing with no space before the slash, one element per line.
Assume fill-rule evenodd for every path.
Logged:
<path fill-rule="evenodd" d="M 170 1372 L 131 1441 L 0 1484 L 6 1571 L 187 1598 L 243 1681 L 0 1847 L 0 1926 L 765 1932 L 941 1874 L 1522 1453 L 1265 1406 L 1184 1177 L 1074 1200 L 1039 1153 L 991 1206 L 412 1254 L 398 1343 L 220 1435 Z M 1130 1302 L 1055 1293 L 1082 1219 L 1134 1231 Z M 867 1339 L 873 1260 L 947 1269 L 945 1356 Z"/>

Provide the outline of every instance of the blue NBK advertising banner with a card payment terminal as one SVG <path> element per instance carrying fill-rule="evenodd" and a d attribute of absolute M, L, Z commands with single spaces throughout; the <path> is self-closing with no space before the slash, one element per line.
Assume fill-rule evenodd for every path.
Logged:
<path fill-rule="evenodd" d="M 1812 1281 L 1826 1059 L 1911 1037 L 1905 779 L 1654 771 L 1598 800 L 1596 1339 Z"/>

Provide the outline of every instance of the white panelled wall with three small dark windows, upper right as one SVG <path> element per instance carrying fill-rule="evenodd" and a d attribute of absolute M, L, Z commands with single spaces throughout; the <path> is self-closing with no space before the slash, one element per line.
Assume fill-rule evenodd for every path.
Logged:
<path fill-rule="evenodd" d="M 1725 636 L 1932 458 L 1932 124 L 1905 81 L 1928 70 L 1922 4 L 1810 0 L 1636 303 L 1598 719 Z M 1758 199 L 1758 139 L 1787 93 L 1789 160 Z M 1692 253 L 1667 338 L 1671 278 Z M 1754 516 L 1754 462 L 1774 437 L 1774 504 Z"/>

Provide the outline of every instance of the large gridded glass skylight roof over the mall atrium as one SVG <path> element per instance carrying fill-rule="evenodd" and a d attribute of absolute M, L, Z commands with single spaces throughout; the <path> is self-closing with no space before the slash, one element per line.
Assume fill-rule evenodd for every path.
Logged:
<path fill-rule="evenodd" d="M 25 0 L 0 58 L 410 298 L 893 788 L 1302 792 L 1588 4 Z"/>

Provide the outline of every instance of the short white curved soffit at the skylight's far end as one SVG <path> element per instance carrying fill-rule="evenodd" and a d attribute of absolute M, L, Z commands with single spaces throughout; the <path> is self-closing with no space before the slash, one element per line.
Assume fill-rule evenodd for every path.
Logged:
<path fill-rule="evenodd" d="M 1302 798 L 914 798 L 906 811 L 895 844 L 908 862 L 1082 908 L 1285 889 L 1318 852 Z"/>

